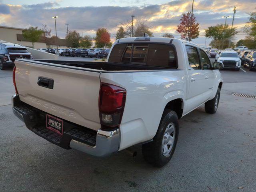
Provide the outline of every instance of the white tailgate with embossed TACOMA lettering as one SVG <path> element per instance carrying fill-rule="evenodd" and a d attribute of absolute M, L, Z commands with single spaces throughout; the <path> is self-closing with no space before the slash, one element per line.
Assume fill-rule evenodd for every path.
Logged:
<path fill-rule="evenodd" d="M 87 128 L 100 128 L 99 70 L 71 69 L 59 64 L 22 60 L 15 60 L 15 65 L 21 101 Z M 53 88 L 39 86 L 39 77 L 53 79 Z"/>

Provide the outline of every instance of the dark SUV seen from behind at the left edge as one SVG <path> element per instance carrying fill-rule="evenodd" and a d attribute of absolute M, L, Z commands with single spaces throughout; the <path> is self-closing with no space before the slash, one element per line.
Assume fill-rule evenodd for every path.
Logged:
<path fill-rule="evenodd" d="M 17 58 L 31 59 L 32 56 L 24 46 L 0 42 L 0 70 L 4 70 L 6 67 L 13 67 Z"/>

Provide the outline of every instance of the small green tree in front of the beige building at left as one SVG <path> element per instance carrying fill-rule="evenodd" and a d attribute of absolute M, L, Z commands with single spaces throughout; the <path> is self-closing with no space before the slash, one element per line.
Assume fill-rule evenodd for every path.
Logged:
<path fill-rule="evenodd" d="M 38 27 L 30 26 L 27 29 L 22 30 L 22 35 L 24 38 L 32 42 L 32 47 L 34 48 L 35 42 L 38 42 L 43 34 L 42 30 L 38 30 Z"/>

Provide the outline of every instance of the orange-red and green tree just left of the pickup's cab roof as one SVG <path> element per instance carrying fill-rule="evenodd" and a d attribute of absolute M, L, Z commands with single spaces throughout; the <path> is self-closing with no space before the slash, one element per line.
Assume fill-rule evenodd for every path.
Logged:
<path fill-rule="evenodd" d="M 110 33 L 106 28 L 98 28 L 94 40 L 98 48 L 108 46 L 110 44 Z"/>

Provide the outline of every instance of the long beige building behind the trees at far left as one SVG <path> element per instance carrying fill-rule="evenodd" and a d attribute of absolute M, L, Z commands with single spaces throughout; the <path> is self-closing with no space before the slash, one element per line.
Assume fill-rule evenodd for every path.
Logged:
<path fill-rule="evenodd" d="M 22 35 L 22 28 L 15 28 L 15 27 L 7 27 L 7 26 L 0 26 L 0 40 L 20 44 L 26 47 L 32 47 L 32 42 L 25 39 Z M 66 39 L 57 38 L 54 42 L 49 45 L 49 48 L 70 48 L 71 45 Z M 47 48 L 45 39 L 41 37 L 38 42 L 35 42 L 34 48 Z"/>

